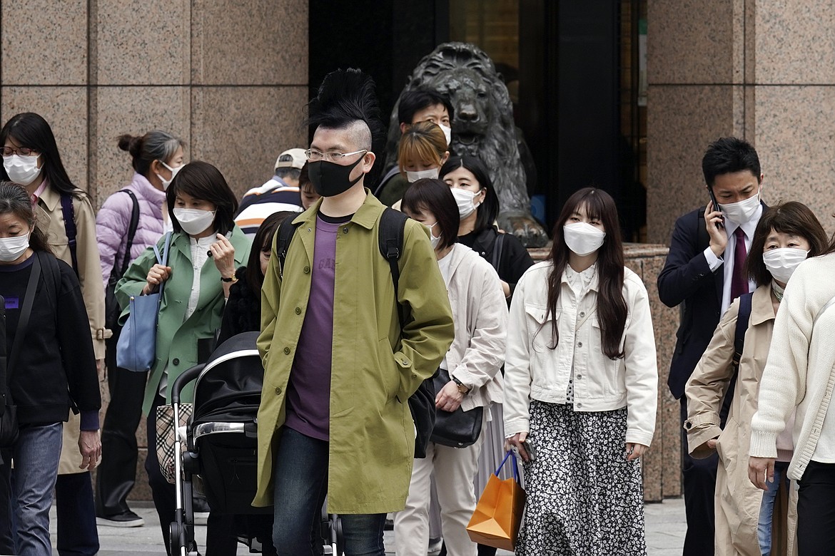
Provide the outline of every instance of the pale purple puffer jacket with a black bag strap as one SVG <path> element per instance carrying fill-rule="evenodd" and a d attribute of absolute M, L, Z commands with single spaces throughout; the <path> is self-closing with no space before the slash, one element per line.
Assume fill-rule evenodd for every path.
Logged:
<path fill-rule="evenodd" d="M 139 173 L 128 186 L 139 201 L 139 224 L 136 227 L 134 243 L 130 248 L 130 260 L 139 257 L 145 248 L 153 245 L 163 234 L 162 205 L 165 202 L 165 192 L 159 191 Z M 114 261 L 121 267 L 124 258 L 124 248 L 128 243 L 130 216 L 134 210 L 134 202 L 128 193 L 114 193 L 106 201 L 96 216 L 96 236 L 99 240 L 99 257 L 102 263 L 102 279 L 107 288 L 110 272 Z"/>

